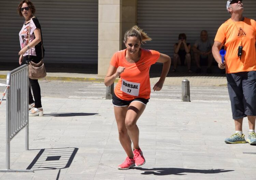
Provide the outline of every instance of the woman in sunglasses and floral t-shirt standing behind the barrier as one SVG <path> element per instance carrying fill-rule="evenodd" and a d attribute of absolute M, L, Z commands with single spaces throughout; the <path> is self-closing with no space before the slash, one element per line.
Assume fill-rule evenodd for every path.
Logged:
<path fill-rule="evenodd" d="M 20 48 L 19 64 L 28 64 L 29 61 L 38 63 L 44 56 L 44 48 L 42 47 L 43 39 L 41 25 L 37 18 L 33 17 L 35 7 L 29 0 L 21 1 L 18 5 L 17 12 L 21 17 L 25 18 L 22 29 L 19 32 Z M 30 39 L 28 32 L 30 26 Z M 43 53 L 43 55 L 42 55 Z M 29 88 L 29 116 L 43 116 L 43 108 L 41 104 L 41 89 L 38 79 L 30 79 L 30 85 L 33 90 L 34 100 Z"/>

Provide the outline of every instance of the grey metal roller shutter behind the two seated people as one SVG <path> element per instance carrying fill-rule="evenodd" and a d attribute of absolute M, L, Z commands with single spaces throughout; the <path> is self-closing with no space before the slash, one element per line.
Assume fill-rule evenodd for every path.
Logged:
<path fill-rule="evenodd" d="M 256 1 L 244 1 L 244 16 L 256 20 Z M 185 33 L 191 46 L 207 30 L 214 39 L 219 26 L 230 18 L 226 1 L 138 0 L 138 26 L 153 40 L 143 48 L 154 49 L 173 57 L 178 35 Z"/>

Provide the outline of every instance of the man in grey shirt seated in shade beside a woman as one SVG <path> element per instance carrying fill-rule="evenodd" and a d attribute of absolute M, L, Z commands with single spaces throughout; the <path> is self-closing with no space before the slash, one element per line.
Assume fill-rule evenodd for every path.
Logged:
<path fill-rule="evenodd" d="M 202 30 L 200 40 L 197 40 L 192 48 L 197 65 L 197 73 L 201 73 L 201 66 L 207 66 L 207 73 L 211 73 L 213 62 L 212 45 L 213 42 L 208 39 L 208 32 Z"/>

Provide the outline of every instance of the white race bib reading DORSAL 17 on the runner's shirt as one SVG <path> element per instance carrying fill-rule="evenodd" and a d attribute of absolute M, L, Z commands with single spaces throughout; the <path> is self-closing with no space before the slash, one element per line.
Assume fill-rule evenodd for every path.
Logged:
<path fill-rule="evenodd" d="M 120 90 L 133 96 L 139 96 L 140 83 L 133 83 L 122 79 L 122 86 Z"/>

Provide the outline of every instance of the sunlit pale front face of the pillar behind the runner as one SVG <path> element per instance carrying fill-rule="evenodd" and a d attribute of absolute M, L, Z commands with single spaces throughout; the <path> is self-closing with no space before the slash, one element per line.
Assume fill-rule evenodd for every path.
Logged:
<path fill-rule="evenodd" d="M 113 54 L 122 48 L 122 0 L 99 0 L 98 76 L 104 77 Z"/>

